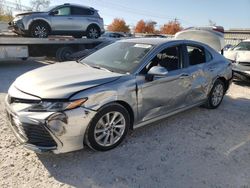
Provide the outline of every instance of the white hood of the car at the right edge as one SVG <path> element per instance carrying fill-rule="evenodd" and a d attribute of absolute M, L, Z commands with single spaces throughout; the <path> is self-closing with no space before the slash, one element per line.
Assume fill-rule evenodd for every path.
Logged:
<path fill-rule="evenodd" d="M 250 51 L 224 51 L 224 56 L 227 59 L 238 62 L 250 62 Z"/>

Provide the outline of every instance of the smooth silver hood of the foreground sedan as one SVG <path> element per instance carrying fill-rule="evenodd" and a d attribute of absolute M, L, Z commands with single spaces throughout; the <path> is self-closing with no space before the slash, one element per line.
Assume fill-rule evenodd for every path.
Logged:
<path fill-rule="evenodd" d="M 14 87 L 42 99 L 68 99 L 74 93 L 120 78 L 122 74 L 96 69 L 76 62 L 44 66 L 16 79 Z"/>

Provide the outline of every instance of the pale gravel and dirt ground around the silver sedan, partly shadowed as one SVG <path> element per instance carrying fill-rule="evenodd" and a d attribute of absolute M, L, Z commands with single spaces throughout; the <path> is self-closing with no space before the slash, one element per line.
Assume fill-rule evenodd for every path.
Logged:
<path fill-rule="evenodd" d="M 38 155 L 7 126 L 4 97 L 39 62 L 0 62 L 0 187 L 250 187 L 250 85 L 216 110 L 194 108 L 131 132 L 108 152 Z"/>

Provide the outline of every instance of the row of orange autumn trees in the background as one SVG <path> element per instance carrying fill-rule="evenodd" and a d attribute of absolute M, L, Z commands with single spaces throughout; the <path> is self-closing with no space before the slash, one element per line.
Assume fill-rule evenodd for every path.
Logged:
<path fill-rule="evenodd" d="M 183 27 L 181 23 L 177 20 L 171 20 L 160 27 L 160 29 L 156 29 L 157 22 L 155 21 L 145 21 L 139 20 L 134 28 L 134 33 L 149 33 L 149 34 L 175 34 L 178 31 L 181 31 Z M 110 25 L 107 27 L 108 31 L 112 32 L 124 32 L 129 33 L 131 29 L 126 24 L 124 19 L 115 18 Z"/>

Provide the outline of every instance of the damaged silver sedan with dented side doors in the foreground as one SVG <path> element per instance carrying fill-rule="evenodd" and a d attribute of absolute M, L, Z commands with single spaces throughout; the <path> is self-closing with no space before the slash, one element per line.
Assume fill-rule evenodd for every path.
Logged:
<path fill-rule="evenodd" d="M 36 152 L 116 147 L 129 129 L 203 105 L 217 108 L 232 66 L 202 43 L 118 41 L 80 62 L 45 66 L 16 79 L 6 111 L 17 139 Z"/>

